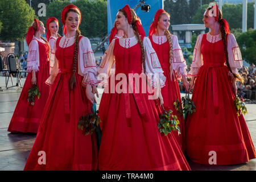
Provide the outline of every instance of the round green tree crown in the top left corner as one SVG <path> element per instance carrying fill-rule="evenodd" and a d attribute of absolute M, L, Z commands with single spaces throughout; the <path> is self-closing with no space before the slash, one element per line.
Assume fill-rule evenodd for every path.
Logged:
<path fill-rule="evenodd" d="M 35 11 L 25 0 L 1 0 L 0 21 L 2 22 L 2 30 L 0 39 L 6 41 L 23 40 L 34 18 L 36 18 Z"/>

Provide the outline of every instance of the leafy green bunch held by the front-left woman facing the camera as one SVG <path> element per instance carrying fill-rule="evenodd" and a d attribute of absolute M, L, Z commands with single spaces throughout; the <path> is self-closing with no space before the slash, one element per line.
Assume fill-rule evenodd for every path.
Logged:
<path fill-rule="evenodd" d="M 92 112 L 88 115 L 82 115 L 80 121 L 78 122 L 78 129 L 82 130 L 84 135 L 92 135 L 93 131 L 96 130 L 96 127 L 101 122 L 100 116 L 98 116 L 98 110 L 96 113 Z"/>

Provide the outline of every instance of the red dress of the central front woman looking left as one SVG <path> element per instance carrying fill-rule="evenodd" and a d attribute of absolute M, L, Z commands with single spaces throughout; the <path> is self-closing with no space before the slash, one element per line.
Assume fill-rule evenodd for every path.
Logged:
<path fill-rule="evenodd" d="M 124 48 L 119 39 L 115 39 L 114 56 L 115 75 L 142 73 L 138 43 Z M 174 137 L 159 133 L 160 107 L 155 100 L 148 100 L 148 93 L 104 93 L 99 111 L 102 121 L 100 170 L 190 169 Z"/>

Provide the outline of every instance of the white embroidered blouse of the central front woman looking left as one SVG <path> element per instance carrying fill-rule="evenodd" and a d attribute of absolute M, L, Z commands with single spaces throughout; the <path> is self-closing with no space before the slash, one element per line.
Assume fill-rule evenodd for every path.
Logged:
<path fill-rule="evenodd" d="M 102 57 L 100 67 L 97 68 L 98 75 L 106 74 L 105 76 L 108 78 L 111 73 L 114 73 L 114 44 L 115 41 L 119 41 L 120 46 L 124 48 L 130 48 L 135 46 L 138 43 L 136 36 L 132 38 L 120 38 L 120 39 L 113 39 L 112 42 L 109 44 L 109 48 L 106 50 L 104 56 Z M 145 50 L 145 63 L 146 63 L 146 75 L 149 77 L 152 76 L 151 86 L 154 88 L 155 82 L 160 81 L 161 88 L 164 86 L 164 82 L 166 81 L 166 77 L 163 75 L 163 70 L 158 60 L 158 56 L 155 53 L 155 50 L 152 48 L 150 39 L 144 37 L 143 39 L 143 46 Z M 142 72 L 143 66 L 142 66 Z M 156 75 L 157 74 L 157 75 Z M 151 76 L 150 76 L 151 75 Z M 157 79 L 158 78 L 158 79 Z M 100 79 L 101 80 L 101 79 Z M 106 79 L 104 80 L 106 81 Z M 104 82 L 106 84 L 106 82 Z"/>

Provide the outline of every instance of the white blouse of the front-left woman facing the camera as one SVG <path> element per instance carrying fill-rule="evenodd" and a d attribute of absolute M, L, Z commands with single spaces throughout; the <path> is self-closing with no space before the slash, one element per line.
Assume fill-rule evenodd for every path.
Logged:
<path fill-rule="evenodd" d="M 67 38 L 66 36 L 61 37 L 59 46 L 61 48 L 66 48 L 72 46 L 75 43 L 75 36 L 72 38 Z M 53 47 L 53 51 L 56 50 L 56 42 L 55 46 Z M 53 84 L 57 74 L 59 71 L 58 60 L 55 57 L 54 65 L 52 68 L 52 72 L 50 73 L 50 77 L 47 79 L 46 83 L 49 85 Z M 92 86 L 98 85 L 97 70 L 96 70 L 96 63 L 94 53 L 92 51 L 92 47 L 90 45 L 90 40 L 86 37 L 82 37 L 79 42 L 79 53 L 78 53 L 78 74 L 83 76 L 84 79 L 82 80 L 82 85 L 86 86 L 90 84 Z"/>

